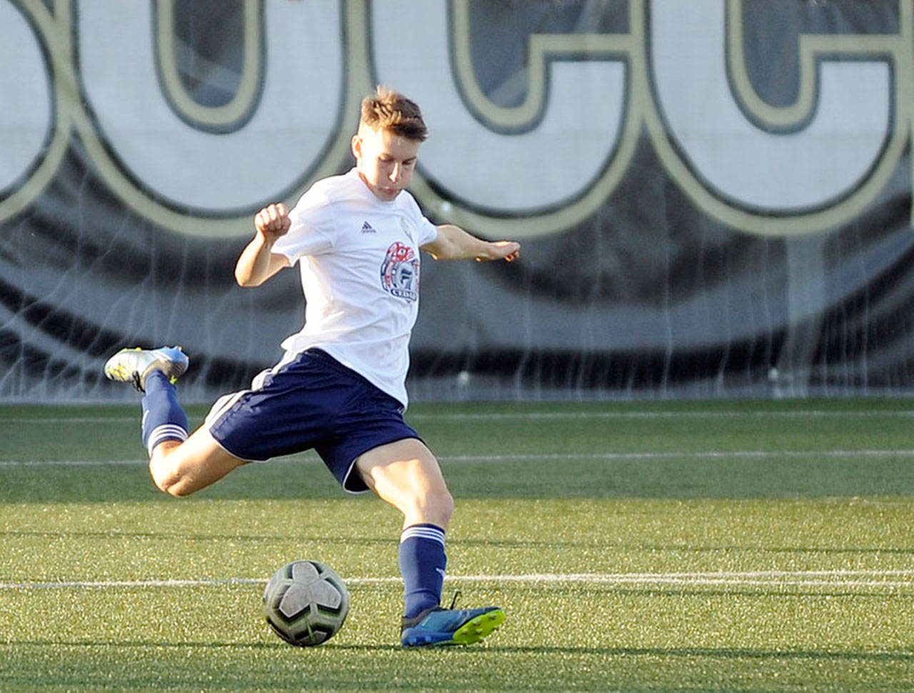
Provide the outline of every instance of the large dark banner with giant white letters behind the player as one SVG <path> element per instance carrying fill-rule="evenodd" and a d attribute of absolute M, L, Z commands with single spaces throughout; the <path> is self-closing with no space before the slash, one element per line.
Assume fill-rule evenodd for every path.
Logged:
<path fill-rule="evenodd" d="M 303 320 L 232 268 L 267 203 L 352 165 L 375 84 L 430 126 L 414 397 L 914 389 L 906 0 L 0 0 L 0 401 L 186 399 Z"/>

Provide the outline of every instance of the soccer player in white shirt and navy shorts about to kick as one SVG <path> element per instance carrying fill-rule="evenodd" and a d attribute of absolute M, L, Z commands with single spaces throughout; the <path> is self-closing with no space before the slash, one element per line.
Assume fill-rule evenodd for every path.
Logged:
<path fill-rule="evenodd" d="M 440 605 L 453 499 L 403 413 L 420 250 L 511 262 L 519 246 L 422 215 L 406 188 L 426 136 L 419 107 L 378 87 L 362 101 L 356 166 L 315 183 L 291 212 L 278 203 L 255 215 L 235 278 L 256 287 L 297 263 L 304 326 L 282 342 L 280 362 L 249 390 L 220 397 L 193 435 L 175 393 L 188 365 L 179 347 L 124 349 L 105 364 L 108 378 L 144 393 L 143 443 L 166 493 L 185 496 L 250 461 L 314 448 L 346 491 L 372 490 L 399 509 L 403 646 L 477 642 L 505 620 L 496 606 Z"/>

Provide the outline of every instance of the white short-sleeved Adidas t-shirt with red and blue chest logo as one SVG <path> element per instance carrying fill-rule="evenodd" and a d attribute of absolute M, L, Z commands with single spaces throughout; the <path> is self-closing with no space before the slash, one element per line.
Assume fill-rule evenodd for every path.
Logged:
<path fill-rule="evenodd" d="M 411 194 L 383 202 L 356 169 L 315 183 L 289 216 L 272 252 L 299 262 L 306 306 L 302 330 L 282 348 L 323 349 L 405 406 L 420 247 L 438 229 Z"/>

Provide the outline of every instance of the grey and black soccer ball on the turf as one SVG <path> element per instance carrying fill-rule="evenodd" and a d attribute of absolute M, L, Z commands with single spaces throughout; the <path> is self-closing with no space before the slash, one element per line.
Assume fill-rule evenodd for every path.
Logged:
<path fill-rule="evenodd" d="M 349 593 L 340 576 L 318 561 L 295 561 L 273 573 L 263 591 L 263 615 L 290 645 L 320 645 L 343 627 Z"/>

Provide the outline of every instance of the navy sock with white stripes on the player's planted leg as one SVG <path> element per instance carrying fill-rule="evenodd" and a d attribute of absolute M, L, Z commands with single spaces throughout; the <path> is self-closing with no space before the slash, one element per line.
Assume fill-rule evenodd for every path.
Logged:
<path fill-rule="evenodd" d="M 399 569 L 403 576 L 405 615 L 412 618 L 441 604 L 448 559 L 444 530 L 432 524 L 410 525 L 400 534 Z"/>

